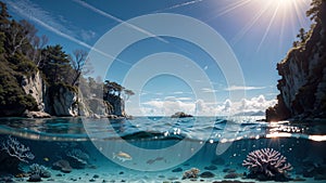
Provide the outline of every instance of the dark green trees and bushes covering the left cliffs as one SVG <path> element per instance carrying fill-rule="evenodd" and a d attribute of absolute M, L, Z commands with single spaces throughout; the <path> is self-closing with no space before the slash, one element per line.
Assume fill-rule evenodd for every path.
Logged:
<path fill-rule="evenodd" d="M 108 110 L 113 108 L 110 101 L 135 94 L 116 82 L 85 79 L 83 76 L 92 71 L 86 51 L 75 50 L 71 55 L 62 45 L 47 42 L 48 38 L 37 36 L 37 29 L 27 21 L 12 19 L 5 3 L 0 1 L 0 116 L 20 116 L 26 109 L 38 109 L 35 99 L 22 86 L 38 73 L 47 87 L 48 105 L 53 104 L 52 96 L 62 88 L 75 93 L 82 88 L 88 100 L 84 102 L 91 105 L 104 99 Z M 75 103 L 78 104 L 79 101 Z"/>

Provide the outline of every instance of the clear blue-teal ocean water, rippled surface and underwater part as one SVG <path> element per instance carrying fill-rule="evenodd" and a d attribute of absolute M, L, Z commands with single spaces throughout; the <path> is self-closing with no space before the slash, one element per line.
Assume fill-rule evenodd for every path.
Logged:
<path fill-rule="evenodd" d="M 0 182 L 30 181 L 33 164 L 51 173 L 42 182 L 261 182 L 242 162 L 263 148 L 279 152 L 292 167 L 276 181 L 326 182 L 326 121 L 262 118 L 0 118 Z M 9 165 L 3 147 L 12 140 L 34 158 Z M 59 160 L 71 170 L 55 167 Z M 183 179 L 191 168 L 198 178 Z"/>

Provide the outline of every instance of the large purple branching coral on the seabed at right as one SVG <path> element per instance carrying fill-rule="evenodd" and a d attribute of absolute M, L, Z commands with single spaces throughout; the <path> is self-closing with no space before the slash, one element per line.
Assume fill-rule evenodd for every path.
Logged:
<path fill-rule="evenodd" d="M 281 156 L 279 152 L 273 148 L 262 148 L 249 153 L 242 166 L 247 167 L 253 177 L 274 179 L 286 175 L 286 172 L 292 169 L 286 160 L 287 158 Z"/>

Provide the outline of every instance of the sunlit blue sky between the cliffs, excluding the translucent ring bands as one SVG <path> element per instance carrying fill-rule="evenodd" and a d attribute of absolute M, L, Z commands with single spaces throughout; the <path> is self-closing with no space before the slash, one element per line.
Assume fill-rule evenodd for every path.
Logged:
<path fill-rule="evenodd" d="M 299 28 L 309 29 L 311 24 L 305 17 L 310 0 L 4 0 L 4 2 L 8 3 L 14 18 L 25 18 L 35 24 L 39 35 L 47 35 L 50 44 L 62 44 L 67 53 L 76 49 L 89 51 L 113 27 L 130 18 L 153 13 L 175 13 L 193 17 L 223 37 L 239 62 L 244 86 L 228 86 L 216 62 L 205 50 L 187 40 L 163 37 L 165 42 L 158 38 L 148 38 L 125 49 L 108 68 L 108 75 L 102 78 L 122 83 L 133 66 L 143 57 L 154 53 L 172 52 L 191 60 L 209 77 L 210 84 L 213 86 L 212 89 L 199 89 L 184 78 L 166 74 L 148 78 L 141 90 L 135 91 L 137 97 L 131 96 L 126 102 L 127 113 L 136 116 L 171 115 L 177 110 L 191 114 L 201 110 L 201 115 L 263 110 L 275 104 L 278 93 L 276 83 L 279 76 L 276 64 L 286 56 Z M 173 26 L 170 23 L 161 24 Z M 143 31 L 138 28 L 131 27 L 130 30 Z M 185 30 L 185 34 L 187 31 Z M 205 36 L 200 32 L 198 35 Z M 115 43 L 108 42 L 112 45 Z M 97 67 L 98 63 L 95 61 L 92 65 Z M 143 68 L 147 69 L 151 68 Z M 180 71 L 187 73 L 187 67 L 180 68 Z M 200 97 L 193 90 L 202 92 Z M 229 97 L 230 91 L 239 90 L 246 92 L 246 97 L 237 100 Z M 210 100 L 209 95 L 212 93 L 216 96 L 216 101 Z"/>

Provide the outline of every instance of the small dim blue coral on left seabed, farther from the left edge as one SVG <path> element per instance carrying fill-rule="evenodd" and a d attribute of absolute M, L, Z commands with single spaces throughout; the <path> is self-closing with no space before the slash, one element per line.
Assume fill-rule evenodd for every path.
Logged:
<path fill-rule="evenodd" d="M 84 168 L 88 164 L 89 156 L 79 148 L 73 148 L 66 153 L 68 161 L 74 168 Z"/>

